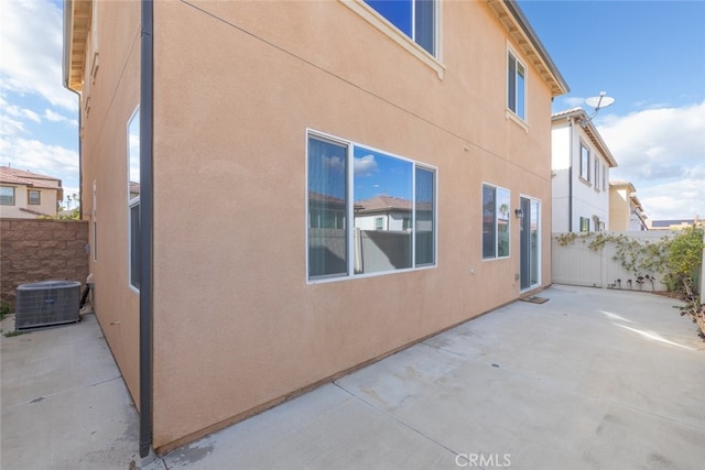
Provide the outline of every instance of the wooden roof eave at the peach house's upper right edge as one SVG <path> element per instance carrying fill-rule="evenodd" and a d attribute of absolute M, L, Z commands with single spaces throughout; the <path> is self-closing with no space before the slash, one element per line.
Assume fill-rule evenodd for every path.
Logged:
<path fill-rule="evenodd" d="M 514 39 L 525 56 L 551 87 L 551 96 L 556 97 L 571 91 L 567 83 L 558 72 L 551 56 L 539 40 L 539 35 L 529 24 L 516 1 L 487 0 L 490 9 L 497 14 L 505 29 Z"/>

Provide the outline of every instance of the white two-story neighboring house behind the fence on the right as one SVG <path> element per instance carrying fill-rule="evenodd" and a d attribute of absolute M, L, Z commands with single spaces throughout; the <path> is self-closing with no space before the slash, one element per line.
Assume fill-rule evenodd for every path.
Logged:
<path fill-rule="evenodd" d="M 551 122 L 552 230 L 612 230 L 608 182 L 617 161 L 582 108 L 555 113 Z"/>

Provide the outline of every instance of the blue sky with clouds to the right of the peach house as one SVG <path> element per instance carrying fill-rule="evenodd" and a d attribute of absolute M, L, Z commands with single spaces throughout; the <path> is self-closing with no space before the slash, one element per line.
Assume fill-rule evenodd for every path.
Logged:
<path fill-rule="evenodd" d="M 600 91 L 595 124 L 651 219 L 705 218 L 705 2 L 519 1 L 571 87 L 553 111 Z"/>

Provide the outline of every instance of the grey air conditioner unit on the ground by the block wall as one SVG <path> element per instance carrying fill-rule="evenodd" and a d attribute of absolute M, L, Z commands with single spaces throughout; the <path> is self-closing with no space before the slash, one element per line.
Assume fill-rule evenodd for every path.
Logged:
<path fill-rule="evenodd" d="M 80 303 L 80 283 L 45 281 L 18 286 L 14 329 L 75 323 Z"/>

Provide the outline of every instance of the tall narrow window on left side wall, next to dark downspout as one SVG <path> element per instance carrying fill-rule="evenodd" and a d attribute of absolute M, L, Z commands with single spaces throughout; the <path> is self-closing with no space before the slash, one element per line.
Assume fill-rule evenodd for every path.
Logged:
<path fill-rule="evenodd" d="M 132 287 L 140 289 L 140 108 L 128 122 L 128 271 Z"/>

